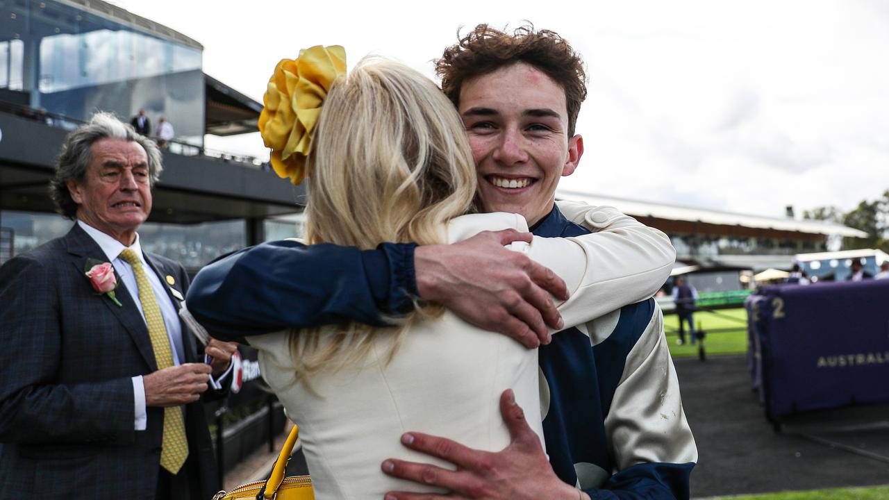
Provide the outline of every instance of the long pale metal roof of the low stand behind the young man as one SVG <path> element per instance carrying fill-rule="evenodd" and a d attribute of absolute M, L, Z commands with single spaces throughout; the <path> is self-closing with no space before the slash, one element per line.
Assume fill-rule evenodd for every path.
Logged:
<path fill-rule="evenodd" d="M 656 217 L 669 221 L 706 222 L 725 226 L 798 231 L 810 234 L 839 235 L 849 238 L 867 238 L 868 233 L 842 224 L 822 221 L 798 221 L 763 215 L 734 214 L 709 208 L 667 205 L 627 198 L 614 198 L 570 190 L 557 190 L 557 199 L 573 199 L 589 205 L 613 206 L 624 214 L 635 217 Z"/>

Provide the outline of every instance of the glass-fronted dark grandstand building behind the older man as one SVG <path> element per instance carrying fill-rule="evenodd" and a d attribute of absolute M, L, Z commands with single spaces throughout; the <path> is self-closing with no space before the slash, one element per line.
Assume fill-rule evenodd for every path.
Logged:
<path fill-rule="evenodd" d="M 204 135 L 256 131 L 261 104 L 204 74 L 203 46 L 100 0 L 0 0 L 0 263 L 65 234 L 47 182 L 65 135 L 96 110 L 129 122 L 145 109 L 174 126 L 148 250 L 195 272 L 212 258 L 293 236 L 301 188 L 252 158 L 204 148 Z"/>

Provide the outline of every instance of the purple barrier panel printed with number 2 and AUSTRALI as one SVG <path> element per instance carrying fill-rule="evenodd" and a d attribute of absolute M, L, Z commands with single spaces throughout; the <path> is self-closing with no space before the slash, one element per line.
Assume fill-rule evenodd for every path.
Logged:
<path fill-rule="evenodd" d="M 889 280 L 758 295 L 766 413 L 889 402 Z"/>

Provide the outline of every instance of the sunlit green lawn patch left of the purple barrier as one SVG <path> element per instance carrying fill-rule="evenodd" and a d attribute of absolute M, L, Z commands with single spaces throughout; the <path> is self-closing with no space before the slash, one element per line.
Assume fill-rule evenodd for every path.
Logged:
<path fill-rule="evenodd" d="M 743 354 L 747 352 L 747 310 L 722 309 L 714 312 L 698 311 L 694 313 L 695 328 L 701 327 L 707 332 L 704 339 L 707 355 L 711 354 Z M 731 331 L 718 331 L 728 330 Z M 679 317 L 676 314 L 664 315 L 664 330 L 667 332 L 669 352 L 674 357 L 697 356 L 698 346 L 688 342 L 688 328 L 685 328 L 685 345 L 677 345 L 679 338 Z"/>

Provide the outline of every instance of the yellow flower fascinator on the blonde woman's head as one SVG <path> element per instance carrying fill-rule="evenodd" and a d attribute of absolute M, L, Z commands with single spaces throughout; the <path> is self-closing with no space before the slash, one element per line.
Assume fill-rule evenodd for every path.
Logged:
<path fill-rule="evenodd" d="M 346 75 L 346 51 L 340 45 L 300 51 L 296 60 L 277 63 L 268 79 L 260 113 L 260 134 L 272 149 L 275 172 L 299 184 L 308 176 L 306 157 L 312 145 L 312 130 L 321 116 L 324 97 L 333 82 Z"/>

